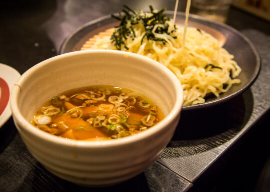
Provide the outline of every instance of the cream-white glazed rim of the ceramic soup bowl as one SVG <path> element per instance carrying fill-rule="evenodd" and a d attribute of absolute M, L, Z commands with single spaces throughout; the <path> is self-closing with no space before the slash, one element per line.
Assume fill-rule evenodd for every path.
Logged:
<path fill-rule="evenodd" d="M 176 95 L 174 105 L 172 109 L 170 110 L 170 112 L 164 117 L 164 119 L 162 119 L 156 125 L 151 127 L 151 129 L 147 129 L 133 136 L 127 136 L 127 137 L 123 137 L 123 138 L 119 138 L 115 140 L 85 141 L 85 140 L 65 139 L 59 136 L 51 135 L 49 133 L 46 133 L 44 131 L 37 129 L 23 117 L 23 115 L 21 114 L 18 108 L 18 100 L 19 100 L 19 95 L 20 95 L 20 90 L 21 90 L 20 85 L 25 81 L 25 79 L 27 79 L 27 77 L 31 76 L 35 72 L 35 70 L 39 69 L 40 67 L 52 61 L 66 58 L 66 57 L 72 57 L 74 55 L 77 56 L 77 55 L 96 54 L 96 53 L 122 55 L 125 57 L 138 58 L 140 60 L 146 61 L 152 67 L 155 67 L 158 70 L 162 71 L 163 74 L 167 76 L 167 78 L 172 82 L 173 88 L 175 90 L 175 95 Z M 16 86 L 16 85 L 19 85 L 19 86 Z M 112 146 L 116 147 L 122 144 L 130 144 L 130 143 L 134 143 L 134 142 L 138 142 L 143 139 L 146 139 L 147 137 L 150 137 L 151 135 L 154 135 L 155 133 L 164 129 L 175 118 L 177 118 L 177 116 L 180 116 L 182 103 L 183 103 L 182 86 L 179 80 L 177 79 L 177 77 L 165 66 L 163 66 L 157 61 L 152 60 L 146 56 L 138 55 L 131 52 L 118 51 L 118 50 L 104 50 L 104 49 L 74 51 L 74 52 L 57 55 L 57 56 L 48 58 L 44 61 L 41 61 L 38 64 L 34 65 L 33 67 L 29 68 L 20 76 L 20 78 L 16 81 L 16 83 L 12 87 L 11 94 L 10 94 L 10 109 L 12 112 L 12 117 L 14 118 L 15 124 L 19 125 L 20 129 L 23 129 L 27 131 L 28 133 L 30 133 L 31 135 L 34 135 L 35 137 L 39 139 L 45 140 L 46 142 L 51 142 L 57 145 L 67 146 L 67 147 L 74 147 L 75 145 L 75 146 L 80 146 L 82 148 L 106 148 L 106 147 L 112 147 Z"/>

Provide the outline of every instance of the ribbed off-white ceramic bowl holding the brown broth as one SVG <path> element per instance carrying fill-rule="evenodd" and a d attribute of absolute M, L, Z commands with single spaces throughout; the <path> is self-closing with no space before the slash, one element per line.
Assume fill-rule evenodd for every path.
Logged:
<path fill-rule="evenodd" d="M 32 156 L 52 174 L 87 186 L 106 186 L 143 172 L 160 156 L 179 121 L 183 92 L 160 63 L 122 51 L 92 50 L 58 55 L 27 70 L 10 95 L 17 130 Z M 41 104 L 63 91 L 113 85 L 154 101 L 165 118 L 135 136 L 109 141 L 68 140 L 30 124 Z"/>

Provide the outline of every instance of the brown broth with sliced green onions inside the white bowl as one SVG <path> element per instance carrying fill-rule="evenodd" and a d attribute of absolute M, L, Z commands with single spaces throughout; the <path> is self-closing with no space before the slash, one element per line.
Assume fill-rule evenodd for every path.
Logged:
<path fill-rule="evenodd" d="M 163 114 L 134 91 L 91 86 L 66 91 L 44 103 L 32 124 L 52 135 L 75 140 L 109 140 L 144 131 Z"/>

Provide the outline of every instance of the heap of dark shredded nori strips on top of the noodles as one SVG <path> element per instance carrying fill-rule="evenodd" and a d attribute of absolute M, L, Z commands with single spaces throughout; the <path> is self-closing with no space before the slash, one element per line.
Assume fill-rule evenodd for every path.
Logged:
<path fill-rule="evenodd" d="M 126 39 L 128 36 L 131 37 L 133 40 L 134 37 L 136 37 L 134 28 L 132 25 L 137 24 L 139 21 L 142 21 L 145 34 L 141 38 L 140 44 L 142 44 L 144 37 L 147 38 L 147 40 L 154 40 L 154 41 L 161 41 L 163 44 L 165 44 L 167 41 L 163 38 L 156 38 L 154 34 L 152 33 L 152 29 L 154 28 L 155 24 L 160 24 L 161 26 L 157 27 L 155 29 L 155 33 L 163 34 L 166 33 L 170 35 L 171 33 L 175 32 L 175 25 L 174 30 L 168 31 L 168 23 L 166 21 L 170 20 L 169 17 L 163 14 L 163 12 L 166 10 L 166 8 L 163 8 L 159 10 L 158 12 L 154 11 L 153 7 L 149 6 L 150 11 L 152 13 L 151 16 L 146 16 L 139 14 L 138 12 L 135 12 L 131 8 L 129 8 L 126 5 L 123 5 L 123 13 L 124 15 L 121 16 L 119 13 L 119 16 L 111 15 L 111 17 L 117 19 L 120 21 L 120 24 L 116 26 L 116 29 L 112 33 L 110 39 L 117 50 L 121 50 L 121 47 L 123 46 L 125 49 L 128 50 L 128 47 L 124 43 L 124 39 Z M 130 21 L 130 26 L 127 27 L 127 23 Z M 174 39 L 176 39 L 176 36 L 172 36 Z"/>

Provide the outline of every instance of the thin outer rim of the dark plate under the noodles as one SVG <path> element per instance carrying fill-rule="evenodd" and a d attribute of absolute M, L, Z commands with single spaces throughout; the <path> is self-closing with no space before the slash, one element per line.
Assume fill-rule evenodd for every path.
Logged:
<path fill-rule="evenodd" d="M 171 14 L 173 15 L 173 11 L 172 10 L 166 10 L 164 11 L 165 14 Z M 113 14 L 118 14 L 118 13 L 113 13 Z M 177 16 L 179 17 L 185 17 L 185 13 L 184 12 L 179 12 L 177 11 L 177 14 L 176 14 L 176 18 Z M 110 18 L 111 17 L 111 14 L 107 14 L 107 15 L 104 15 L 104 16 L 101 16 L 97 19 L 94 19 L 94 20 L 91 20 L 87 23 L 84 23 L 83 25 L 81 25 L 80 27 L 76 28 L 73 32 L 71 32 L 61 43 L 60 47 L 59 47 L 59 51 L 58 53 L 59 54 L 63 54 L 65 53 L 64 52 L 64 48 L 66 46 L 66 44 L 68 43 L 68 41 L 75 35 L 77 34 L 80 30 L 84 29 L 85 27 L 89 26 L 89 25 L 92 25 L 92 24 L 95 24 L 97 22 L 100 22 L 104 19 L 107 19 L 107 18 Z M 213 101 L 208 101 L 208 102 L 204 102 L 204 103 L 199 103 L 199 104 L 195 104 L 195 105 L 186 105 L 186 106 L 182 106 L 182 109 L 183 111 L 189 111 L 189 110 L 196 110 L 196 109 L 202 109 L 202 108 L 207 108 L 207 107 L 212 107 L 212 106 L 215 106 L 217 104 L 221 104 L 221 103 L 224 103 L 234 97 L 236 97 L 237 95 L 243 93 L 245 90 L 247 90 L 253 83 L 254 81 L 257 79 L 259 73 L 260 73 L 260 69 L 261 69 L 261 58 L 260 58 L 260 55 L 256 49 L 256 47 L 253 45 L 253 43 L 244 35 L 242 34 L 240 31 L 238 31 L 237 29 L 225 24 L 225 23 L 221 23 L 221 22 L 217 22 L 217 21 L 213 21 L 213 20 L 210 20 L 210 19 L 207 19 L 207 18 L 204 18 L 202 16 L 198 16 L 198 15 L 195 15 L 195 14 L 190 14 L 189 13 L 189 17 L 188 19 L 192 19 L 192 21 L 195 21 L 196 20 L 200 20 L 200 21 L 204 21 L 204 22 L 208 22 L 208 23 L 212 23 L 212 24 L 215 24 L 215 25 L 219 25 L 221 26 L 222 28 L 226 28 L 227 30 L 229 31 L 232 31 L 233 33 L 237 34 L 238 36 L 240 36 L 250 47 L 250 49 L 252 50 L 254 56 L 255 56 L 255 69 L 254 69 L 254 72 L 251 76 L 251 78 L 248 80 L 248 82 L 242 86 L 239 90 L 225 96 L 225 97 L 222 97 L 222 98 L 216 98 L 214 99 Z M 207 26 L 207 24 L 206 24 Z"/>

